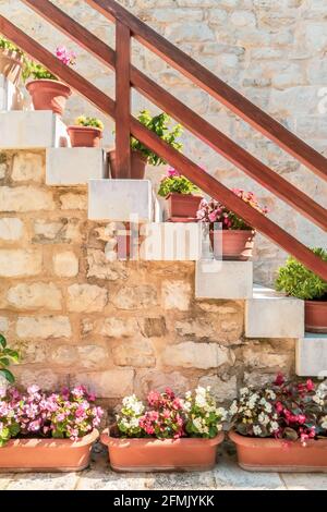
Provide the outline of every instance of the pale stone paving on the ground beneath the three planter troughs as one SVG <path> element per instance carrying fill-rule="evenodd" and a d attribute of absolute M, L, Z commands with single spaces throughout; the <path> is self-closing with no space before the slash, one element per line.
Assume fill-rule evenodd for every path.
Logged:
<path fill-rule="evenodd" d="M 204 473 L 118 474 L 106 452 L 96 449 L 90 467 L 81 473 L 0 475 L 0 490 L 326 490 L 327 474 L 250 473 L 228 449 L 215 470 Z"/>

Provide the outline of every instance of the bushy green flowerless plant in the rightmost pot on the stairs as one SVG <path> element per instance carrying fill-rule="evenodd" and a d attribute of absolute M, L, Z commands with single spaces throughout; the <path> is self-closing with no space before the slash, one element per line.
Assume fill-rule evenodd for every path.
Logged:
<path fill-rule="evenodd" d="M 312 249 L 316 256 L 327 261 L 327 251 L 322 247 Z M 290 256 L 283 267 L 278 270 L 276 290 L 304 301 L 326 298 L 327 281 L 308 270 L 304 265 Z"/>

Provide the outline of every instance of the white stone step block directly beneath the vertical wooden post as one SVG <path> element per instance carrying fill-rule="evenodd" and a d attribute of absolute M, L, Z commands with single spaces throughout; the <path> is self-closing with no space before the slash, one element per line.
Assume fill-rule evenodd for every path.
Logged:
<path fill-rule="evenodd" d="M 121 222 L 150 222 L 155 200 L 148 180 L 89 180 L 88 218 Z"/>

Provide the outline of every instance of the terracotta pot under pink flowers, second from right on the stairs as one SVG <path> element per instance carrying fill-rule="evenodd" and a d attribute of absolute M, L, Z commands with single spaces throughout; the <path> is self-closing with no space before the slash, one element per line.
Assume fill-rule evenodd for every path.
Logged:
<path fill-rule="evenodd" d="M 216 230 L 210 231 L 215 258 L 246 261 L 252 257 L 255 231 Z"/>

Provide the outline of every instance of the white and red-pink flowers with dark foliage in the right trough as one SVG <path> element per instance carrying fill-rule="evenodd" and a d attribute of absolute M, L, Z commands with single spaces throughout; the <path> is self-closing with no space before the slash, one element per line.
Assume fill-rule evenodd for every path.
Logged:
<path fill-rule="evenodd" d="M 281 374 L 261 389 L 242 388 L 231 407 L 235 430 L 249 437 L 275 437 L 302 443 L 327 437 L 327 386 L 311 379 L 286 381 Z"/>

